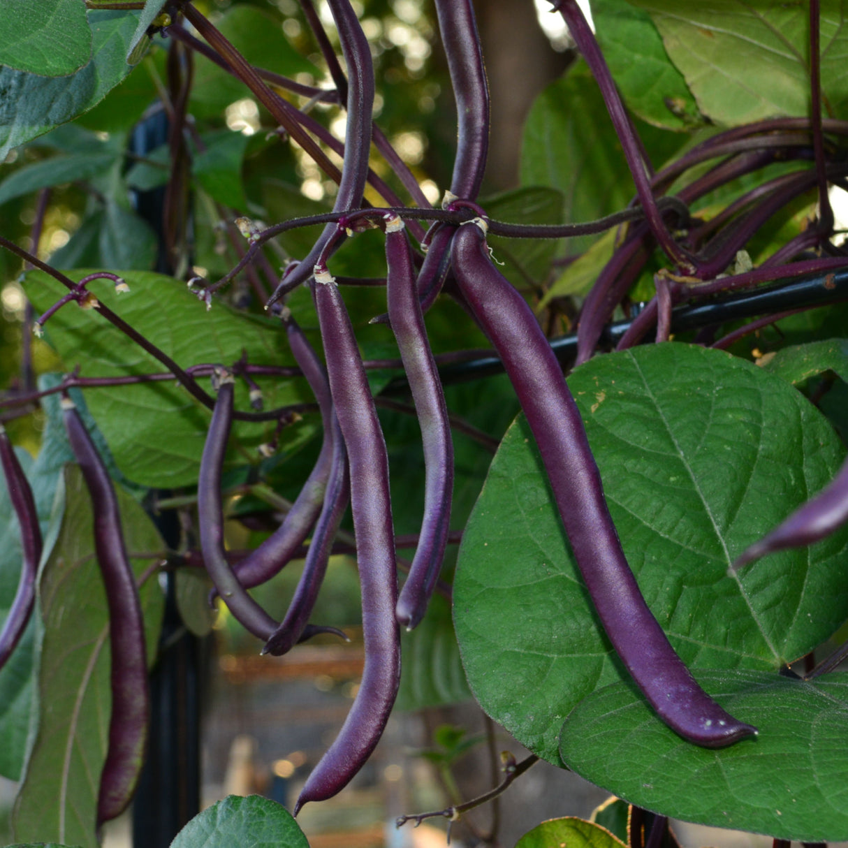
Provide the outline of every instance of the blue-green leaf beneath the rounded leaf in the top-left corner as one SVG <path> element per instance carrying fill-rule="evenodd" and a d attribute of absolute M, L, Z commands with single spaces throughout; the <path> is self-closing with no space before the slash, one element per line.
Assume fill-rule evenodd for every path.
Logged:
<path fill-rule="evenodd" d="M 136 20 L 125 12 L 90 11 L 92 59 L 73 75 L 46 78 L 0 69 L 0 159 L 91 109 L 129 73 L 124 56 Z"/>

